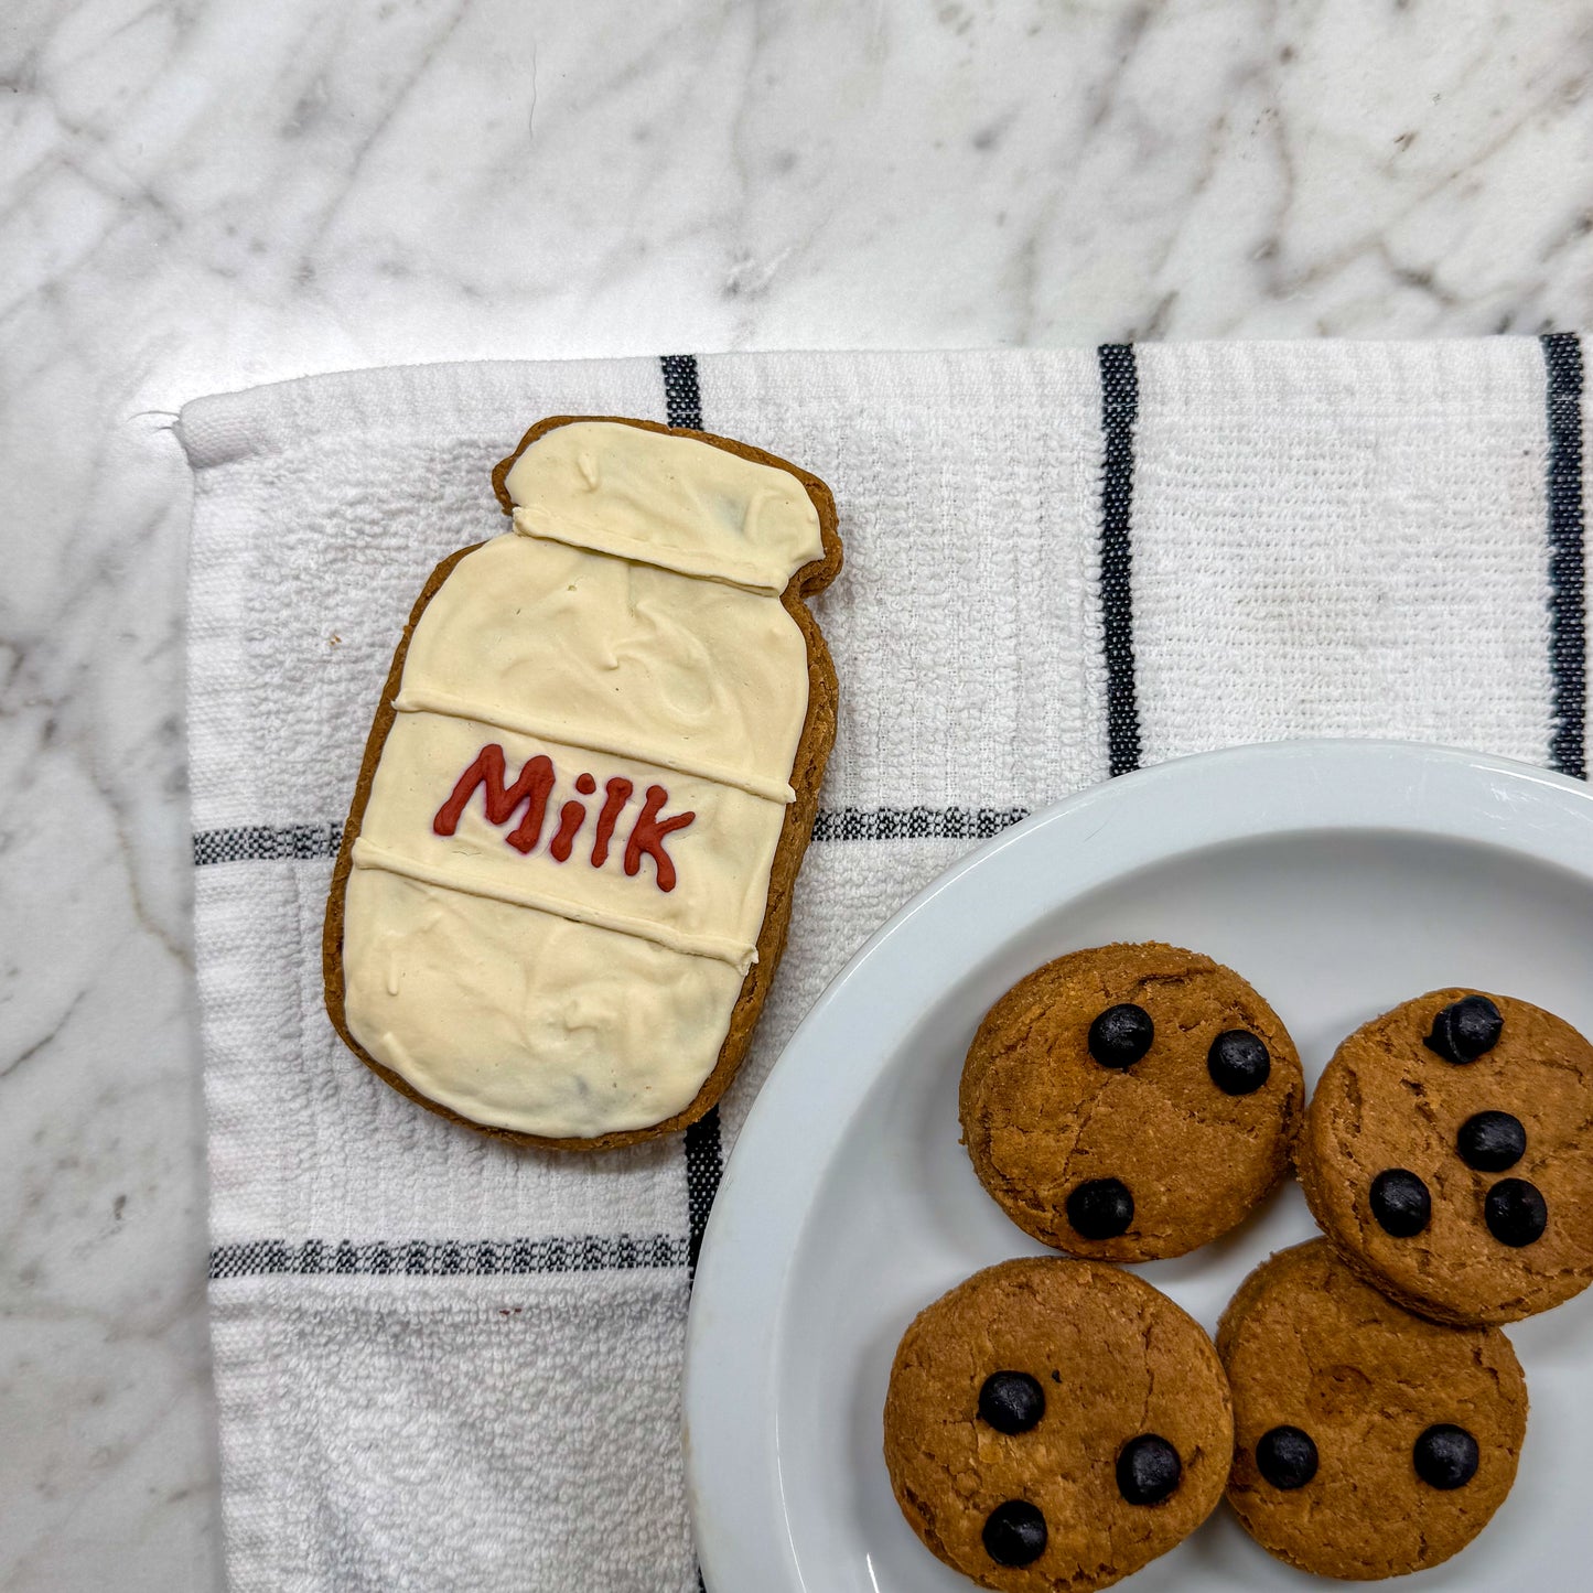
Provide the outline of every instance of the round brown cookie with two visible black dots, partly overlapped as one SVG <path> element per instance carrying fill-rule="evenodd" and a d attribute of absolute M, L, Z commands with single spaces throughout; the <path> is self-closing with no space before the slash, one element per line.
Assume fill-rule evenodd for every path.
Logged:
<path fill-rule="evenodd" d="M 1515 1481 L 1526 1383 L 1496 1327 L 1443 1327 L 1324 1239 L 1281 1251 L 1217 1329 L 1233 1388 L 1228 1502 L 1279 1560 L 1376 1580 L 1464 1548 Z"/>

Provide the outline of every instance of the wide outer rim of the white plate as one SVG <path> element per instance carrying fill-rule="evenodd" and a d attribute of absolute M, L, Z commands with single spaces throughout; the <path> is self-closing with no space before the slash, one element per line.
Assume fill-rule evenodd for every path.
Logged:
<path fill-rule="evenodd" d="M 1177 795 L 1180 789 L 1180 800 L 1169 801 L 1169 790 Z M 1136 827 L 1137 817 L 1155 822 Z M 847 1021 L 860 981 L 876 969 L 890 970 L 913 927 L 927 922 L 926 913 L 954 910 L 959 895 L 989 883 L 1005 889 L 988 892 L 980 930 L 965 943 L 975 959 L 1039 913 L 1064 908 L 1139 868 L 1265 835 L 1378 830 L 1489 844 L 1566 870 L 1593 889 L 1593 787 L 1587 782 L 1424 742 L 1258 742 L 1168 760 L 1034 812 L 935 876 L 846 961 L 752 1102 L 698 1257 L 682 1408 L 687 1501 L 710 1593 L 806 1593 L 781 1488 L 784 1278 L 824 1171 L 894 1055 L 881 1043 L 884 1034 L 910 1029 L 921 1010 L 918 1002 L 898 1000 L 890 1020 L 865 1013 L 860 1026 L 873 1043 L 847 1047 L 849 1066 L 827 1066 L 825 1031 Z M 1580 855 L 1568 833 L 1582 835 Z M 1045 878 L 1043 870 L 1024 876 L 1021 859 L 1035 846 L 1067 843 L 1074 868 L 1064 879 Z M 978 876 L 975 886 L 970 876 Z M 849 1034 L 857 1029 L 854 1023 Z M 859 1058 L 863 1066 L 855 1066 Z M 738 1389 L 733 1410 L 714 1397 L 726 1384 Z"/>

